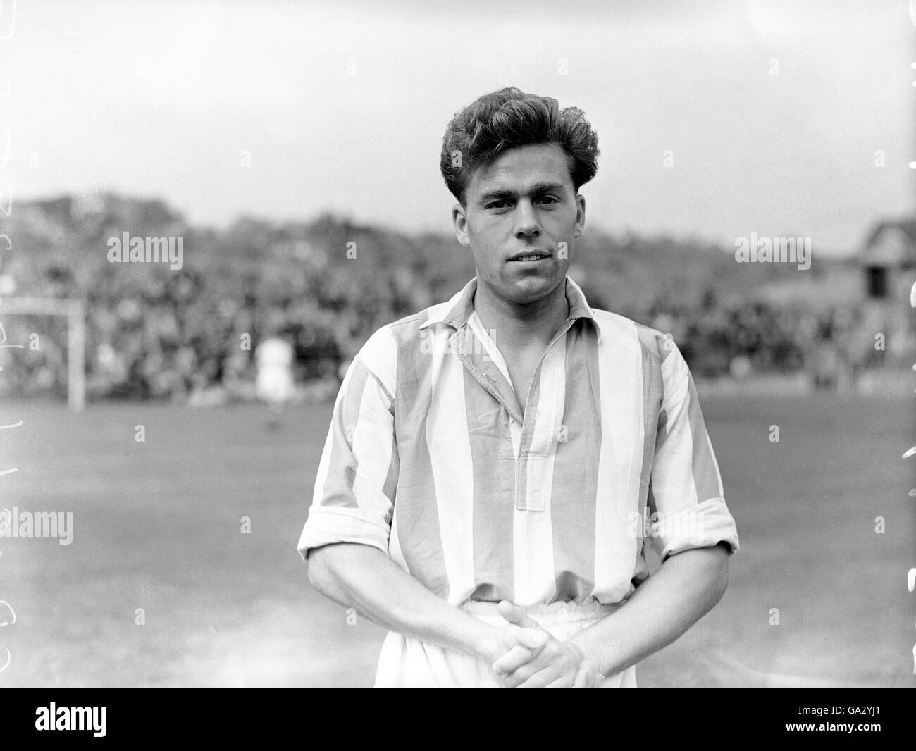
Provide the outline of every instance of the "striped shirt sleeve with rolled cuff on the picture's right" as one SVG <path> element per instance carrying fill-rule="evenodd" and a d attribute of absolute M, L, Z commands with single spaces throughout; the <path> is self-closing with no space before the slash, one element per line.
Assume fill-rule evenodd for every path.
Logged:
<path fill-rule="evenodd" d="M 662 561 L 720 542 L 735 553 L 735 519 L 725 505 L 722 477 L 690 369 L 671 340 L 661 356 L 664 397 L 649 483 L 652 547 Z"/>

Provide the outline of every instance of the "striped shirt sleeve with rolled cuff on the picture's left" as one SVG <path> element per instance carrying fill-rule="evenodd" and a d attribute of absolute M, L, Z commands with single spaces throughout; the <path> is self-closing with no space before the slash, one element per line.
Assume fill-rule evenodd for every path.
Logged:
<path fill-rule="evenodd" d="M 338 542 L 387 553 L 398 477 L 390 387 L 357 355 L 334 402 L 298 550 Z"/>

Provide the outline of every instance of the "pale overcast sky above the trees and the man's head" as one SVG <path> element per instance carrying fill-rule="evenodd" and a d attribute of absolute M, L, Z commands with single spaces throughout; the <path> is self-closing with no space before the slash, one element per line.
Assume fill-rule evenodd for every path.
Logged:
<path fill-rule="evenodd" d="M 15 5 L 14 201 L 119 190 L 201 223 L 448 230 L 445 125 L 517 85 L 591 120 L 587 219 L 613 232 L 842 251 L 916 206 L 907 0 Z"/>

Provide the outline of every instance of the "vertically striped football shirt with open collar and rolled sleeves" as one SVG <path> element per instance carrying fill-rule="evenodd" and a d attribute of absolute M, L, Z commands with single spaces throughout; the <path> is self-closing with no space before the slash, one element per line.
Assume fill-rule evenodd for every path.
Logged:
<path fill-rule="evenodd" d="M 524 415 L 474 311 L 375 332 L 334 403 L 299 550 L 383 550 L 452 604 L 625 600 L 662 561 L 738 548 L 692 376 L 670 335 L 589 307 L 540 360 Z"/>

